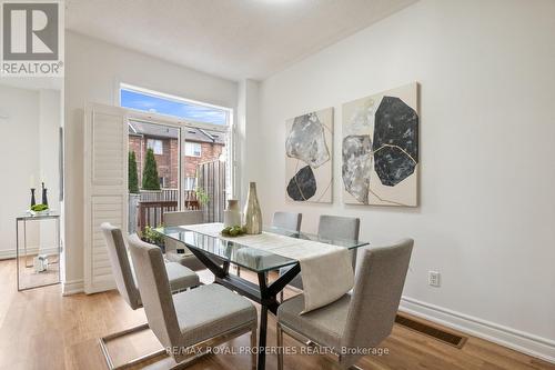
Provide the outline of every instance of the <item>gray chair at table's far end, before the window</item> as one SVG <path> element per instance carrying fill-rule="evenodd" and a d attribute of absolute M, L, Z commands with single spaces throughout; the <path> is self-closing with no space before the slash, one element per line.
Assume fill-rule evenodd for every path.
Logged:
<path fill-rule="evenodd" d="M 196 224 L 202 223 L 203 221 L 203 211 L 164 212 L 164 226 L 167 227 Z M 165 238 L 165 259 L 172 262 L 181 263 L 193 271 L 206 269 L 204 263 L 194 257 L 189 249 L 183 248 L 182 244 L 178 243 L 175 240 L 171 240 L 170 238 Z"/>

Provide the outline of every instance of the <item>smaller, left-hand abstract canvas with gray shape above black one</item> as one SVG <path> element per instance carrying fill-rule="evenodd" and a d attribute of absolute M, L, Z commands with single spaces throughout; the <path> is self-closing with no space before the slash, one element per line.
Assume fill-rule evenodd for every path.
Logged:
<path fill-rule="evenodd" d="M 333 108 L 286 121 L 285 192 L 293 201 L 332 202 Z"/>

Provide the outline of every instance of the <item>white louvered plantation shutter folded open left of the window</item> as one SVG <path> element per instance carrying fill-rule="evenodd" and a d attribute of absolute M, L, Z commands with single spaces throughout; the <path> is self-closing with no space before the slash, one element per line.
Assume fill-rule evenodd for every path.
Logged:
<path fill-rule="evenodd" d="M 127 111 L 89 104 L 84 122 L 84 292 L 89 294 L 114 288 L 100 224 L 110 222 L 127 232 Z"/>

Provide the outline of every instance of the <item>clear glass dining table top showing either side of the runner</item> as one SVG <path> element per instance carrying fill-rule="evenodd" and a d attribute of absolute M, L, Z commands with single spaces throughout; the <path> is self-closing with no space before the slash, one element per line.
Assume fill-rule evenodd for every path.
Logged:
<path fill-rule="evenodd" d="M 223 226 L 222 226 L 223 229 Z M 347 249 L 356 249 L 367 246 L 367 242 L 344 239 L 326 239 L 316 234 L 306 232 L 297 232 L 286 229 L 274 227 L 264 227 L 265 232 L 286 236 L 295 239 L 305 239 L 319 241 L 336 247 Z M 206 236 L 196 231 L 188 230 L 186 226 L 183 227 L 163 227 L 155 229 L 157 232 L 164 237 L 183 243 L 189 249 L 198 249 L 210 257 L 216 257 L 230 263 L 240 266 L 242 268 L 264 272 L 270 270 L 278 270 L 282 267 L 294 266 L 297 261 L 287 257 L 279 256 L 266 250 L 261 250 L 252 247 L 246 247 L 241 243 L 241 237 L 234 240 L 224 240 L 212 236 Z"/>

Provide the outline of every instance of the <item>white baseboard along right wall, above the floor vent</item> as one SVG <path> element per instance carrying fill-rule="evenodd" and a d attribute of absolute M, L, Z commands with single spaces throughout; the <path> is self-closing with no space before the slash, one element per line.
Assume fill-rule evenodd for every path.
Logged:
<path fill-rule="evenodd" d="M 552 339 L 507 328 L 408 297 L 401 299 L 398 309 L 403 312 L 555 363 L 555 341 Z"/>

